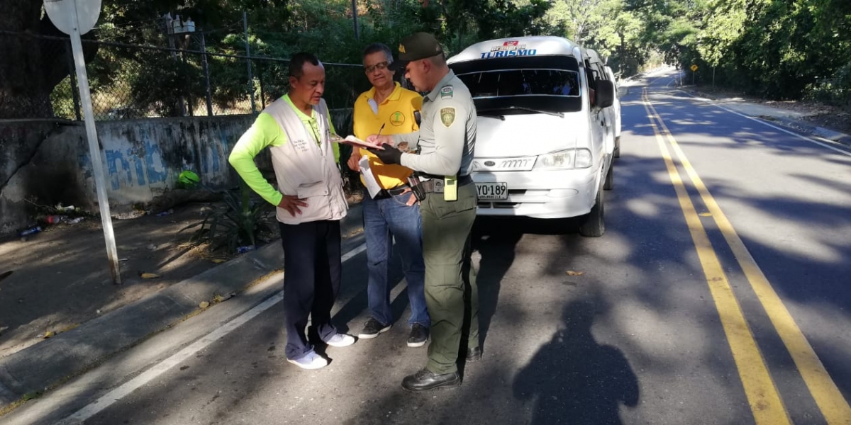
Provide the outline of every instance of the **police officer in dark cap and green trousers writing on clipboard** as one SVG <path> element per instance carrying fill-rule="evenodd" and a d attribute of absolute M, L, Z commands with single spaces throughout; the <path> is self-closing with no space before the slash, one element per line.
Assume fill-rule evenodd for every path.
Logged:
<path fill-rule="evenodd" d="M 470 91 L 446 65 L 440 43 L 430 34 L 418 32 L 405 38 L 399 45 L 399 60 L 391 66 L 404 69 L 414 88 L 427 93 L 420 131 L 368 137 L 368 141 L 383 145 L 383 150 L 371 150 L 381 161 L 418 172 L 420 186 L 426 192 L 420 213 L 431 344 L 426 368 L 405 377 L 402 386 L 410 391 L 452 387 L 460 384 L 456 361 L 464 331 L 465 298 L 470 303 L 466 358 L 476 361 L 482 357 L 478 292 L 470 265 L 470 232 L 477 204 L 476 187 L 470 178 L 476 107 Z M 403 152 L 412 148 L 419 154 Z"/>

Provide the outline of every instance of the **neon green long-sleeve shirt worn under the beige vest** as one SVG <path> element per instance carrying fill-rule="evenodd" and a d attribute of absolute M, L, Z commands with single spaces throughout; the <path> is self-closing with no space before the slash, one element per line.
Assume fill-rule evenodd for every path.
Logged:
<path fill-rule="evenodd" d="M 284 95 L 283 99 L 294 109 L 295 113 L 301 118 L 301 122 L 304 122 L 305 126 L 313 131 L 314 139 L 319 144 L 317 111 L 313 110 L 311 115 L 307 116 L 299 108 L 295 107 L 293 101 L 289 99 L 288 94 Z M 331 122 L 330 116 L 328 117 L 328 125 L 331 127 L 331 133 L 337 133 L 334 130 L 334 124 Z M 257 116 L 257 119 L 254 120 L 254 124 L 239 138 L 239 141 L 237 141 L 237 144 L 231 150 L 231 156 L 228 157 L 231 166 L 237 170 L 237 173 L 245 180 L 248 187 L 257 192 L 267 202 L 276 206 L 281 203 L 283 194 L 269 184 L 266 178 L 263 178 L 263 174 L 260 173 L 257 165 L 254 164 L 254 156 L 257 156 L 260 150 L 265 149 L 266 146 L 281 146 L 285 143 L 287 143 L 287 133 L 283 132 L 283 128 L 277 124 L 275 118 L 272 118 L 266 112 L 261 112 Z M 332 143 L 331 147 L 334 150 L 334 161 L 339 162 L 340 145 Z"/>

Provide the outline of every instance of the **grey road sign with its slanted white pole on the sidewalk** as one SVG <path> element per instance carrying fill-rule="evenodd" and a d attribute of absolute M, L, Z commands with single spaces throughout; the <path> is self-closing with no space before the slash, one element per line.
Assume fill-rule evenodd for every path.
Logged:
<path fill-rule="evenodd" d="M 83 41 L 80 35 L 91 31 L 100 16 L 100 0 L 44 0 L 44 10 L 60 31 L 71 36 L 71 50 L 74 52 L 74 65 L 77 68 L 77 85 L 80 88 L 80 100 L 86 122 L 86 136 L 89 139 L 89 157 L 94 171 L 94 187 L 98 192 L 100 223 L 104 228 L 106 256 L 109 258 L 112 282 L 121 284 L 121 270 L 118 268 L 118 252 L 115 246 L 115 233 L 112 231 L 112 218 L 109 212 L 109 198 L 106 196 L 106 178 L 104 164 L 100 157 L 98 132 L 94 127 L 92 94 L 89 91 L 89 76 L 86 73 L 86 59 L 83 57 Z"/>

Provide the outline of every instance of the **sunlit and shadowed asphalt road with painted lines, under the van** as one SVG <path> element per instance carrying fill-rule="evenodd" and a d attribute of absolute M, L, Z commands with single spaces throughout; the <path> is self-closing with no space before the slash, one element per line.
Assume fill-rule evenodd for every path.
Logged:
<path fill-rule="evenodd" d="M 602 238 L 569 221 L 477 224 L 484 359 L 460 388 L 400 387 L 426 355 L 405 346 L 403 282 L 391 331 L 328 348 L 320 371 L 288 365 L 277 276 L 242 297 L 255 316 L 222 303 L 3 420 L 851 423 L 851 150 L 670 82 L 622 98 Z M 335 317 L 357 333 L 366 267 L 351 253 Z"/>

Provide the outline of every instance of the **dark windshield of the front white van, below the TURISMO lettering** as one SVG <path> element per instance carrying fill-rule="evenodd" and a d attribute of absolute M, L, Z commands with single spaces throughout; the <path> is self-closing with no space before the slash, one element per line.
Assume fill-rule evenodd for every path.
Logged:
<path fill-rule="evenodd" d="M 567 56 L 471 60 L 450 65 L 479 111 L 505 115 L 582 109 L 579 66 Z"/>

